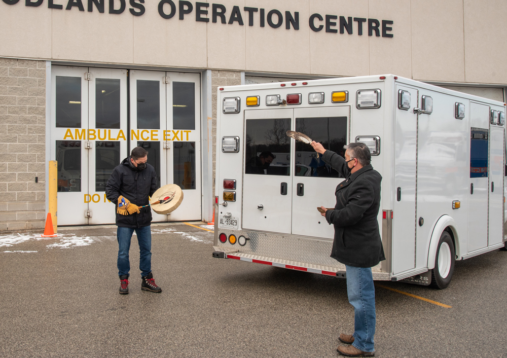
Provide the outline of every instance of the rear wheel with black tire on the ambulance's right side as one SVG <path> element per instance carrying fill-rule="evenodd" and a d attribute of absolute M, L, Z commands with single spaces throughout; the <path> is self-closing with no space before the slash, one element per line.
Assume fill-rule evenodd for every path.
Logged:
<path fill-rule="evenodd" d="M 435 257 L 435 267 L 431 271 L 431 286 L 436 289 L 445 289 L 452 279 L 454 272 L 454 261 L 456 254 L 451 235 L 444 231 L 440 235 L 439 245 L 437 246 L 437 255 Z M 441 262 L 439 264 L 439 259 Z M 445 277 L 442 277 L 445 276 Z"/>

